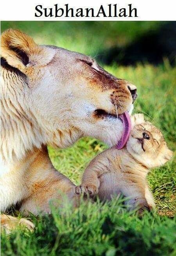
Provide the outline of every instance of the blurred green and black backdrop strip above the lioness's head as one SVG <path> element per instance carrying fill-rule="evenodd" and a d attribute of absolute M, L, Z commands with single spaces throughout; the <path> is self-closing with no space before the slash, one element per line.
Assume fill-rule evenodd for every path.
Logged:
<path fill-rule="evenodd" d="M 164 57 L 175 64 L 176 22 L 1 22 L 1 31 L 9 27 L 105 64 L 159 64 Z"/>

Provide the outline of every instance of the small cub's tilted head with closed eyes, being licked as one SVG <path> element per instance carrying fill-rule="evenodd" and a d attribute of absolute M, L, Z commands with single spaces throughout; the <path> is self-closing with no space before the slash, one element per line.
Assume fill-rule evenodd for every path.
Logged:
<path fill-rule="evenodd" d="M 145 122 L 143 114 L 135 114 L 131 120 L 133 129 L 126 144 L 129 153 L 150 168 L 169 161 L 173 152 L 168 149 L 161 131 Z"/>

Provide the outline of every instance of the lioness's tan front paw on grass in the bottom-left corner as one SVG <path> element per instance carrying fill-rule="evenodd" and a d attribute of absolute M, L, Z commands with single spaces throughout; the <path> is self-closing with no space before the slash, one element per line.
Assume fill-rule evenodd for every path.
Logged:
<path fill-rule="evenodd" d="M 13 229 L 18 226 L 26 227 L 29 230 L 34 229 L 34 224 L 24 218 L 16 218 L 10 215 L 1 214 L 1 231 L 5 230 L 6 234 L 10 234 Z"/>

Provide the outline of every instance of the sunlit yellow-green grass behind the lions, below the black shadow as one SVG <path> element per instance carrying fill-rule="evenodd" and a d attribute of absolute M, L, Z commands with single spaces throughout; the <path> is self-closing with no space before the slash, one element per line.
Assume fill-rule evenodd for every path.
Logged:
<path fill-rule="evenodd" d="M 138 98 L 134 113 L 144 113 L 145 119 L 162 130 L 169 148 L 175 150 L 176 68 L 170 67 L 167 60 L 158 67 L 140 64 L 137 67 L 118 67 L 114 64 L 104 68 L 137 86 Z M 106 145 L 103 143 L 92 138 L 83 138 L 68 149 L 49 148 L 49 153 L 56 169 L 75 184 L 79 184 L 86 165 L 104 149 Z M 152 170 L 148 175 L 158 212 L 169 216 L 174 216 L 176 212 L 175 170 L 176 163 L 173 158 L 165 166 Z"/>

